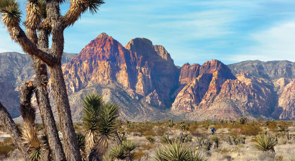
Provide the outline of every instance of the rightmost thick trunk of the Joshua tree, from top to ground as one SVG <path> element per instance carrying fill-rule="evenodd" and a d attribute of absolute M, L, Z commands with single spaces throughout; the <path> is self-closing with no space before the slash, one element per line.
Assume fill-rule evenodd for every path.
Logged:
<path fill-rule="evenodd" d="M 51 26 L 52 45 L 51 55 L 54 57 L 54 65 L 49 66 L 49 73 L 53 85 L 53 95 L 55 97 L 58 111 L 60 129 L 63 133 L 65 143 L 65 156 L 68 161 L 82 161 L 78 139 L 73 126 L 71 109 L 68 100 L 68 93 L 61 69 L 61 57 L 63 54 L 63 24 L 60 19 L 60 8 L 58 0 L 47 0 L 46 6 L 47 20 Z"/>

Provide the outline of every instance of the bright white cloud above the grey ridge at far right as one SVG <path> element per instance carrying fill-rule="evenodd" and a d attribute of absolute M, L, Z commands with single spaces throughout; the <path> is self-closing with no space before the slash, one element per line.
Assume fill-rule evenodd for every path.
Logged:
<path fill-rule="evenodd" d="M 245 54 L 233 56 L 232 60 L 295 61 L 295 20 L 251 34 L 250 38 L 257 45 L 245 48 Z"/>

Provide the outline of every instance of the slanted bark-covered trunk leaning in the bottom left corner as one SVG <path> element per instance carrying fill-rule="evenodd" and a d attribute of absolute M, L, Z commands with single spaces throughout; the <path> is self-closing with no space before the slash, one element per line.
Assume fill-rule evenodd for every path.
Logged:
<path fill-rule="evenodd" d="M 24 160 L 30 161 L 29 154 L 27 153 L 27 150 L 24 148 L 24 146 L 22 146 L 22 143 L 21 143 L 21 139 L 20 139 L 21 133 L 17 125 L 14 123 L 11 116 L 5 109 L 5 107 L 1 104 L 1 102 L 0 102 L 0 120 L 4 124 L 5 128 L 7 129 L 17 149 L 21 152 Z"/>

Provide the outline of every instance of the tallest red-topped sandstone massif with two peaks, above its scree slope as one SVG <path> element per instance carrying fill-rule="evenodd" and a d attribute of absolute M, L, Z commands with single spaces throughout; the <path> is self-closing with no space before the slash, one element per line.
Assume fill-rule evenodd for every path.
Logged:
<path fill-rule="evenodd" d="M 168 103 L 170 91 L 177 86 L 178 71 L 163 46 L 136 38 L 123 47 L 106 33 L 63 65 L 69 95 L 92 83 L 117 82 L 131 89 L 128 91 L 132 96 L 144 97 L 156 90 L 160 99 Z M 165 107 L 163 103 L 160 106 Z"/>

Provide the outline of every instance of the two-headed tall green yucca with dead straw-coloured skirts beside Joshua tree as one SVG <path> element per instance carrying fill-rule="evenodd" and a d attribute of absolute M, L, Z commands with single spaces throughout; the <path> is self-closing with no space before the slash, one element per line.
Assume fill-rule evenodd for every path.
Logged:
<path fill-rule="evenodd" d="M 84 96 L 82 127 L 86 133 L 86 154 L 89 157 L 103 156 L 118 127 L 119 107 L 105 103 L 101 95 L 93 93 Z"/>

